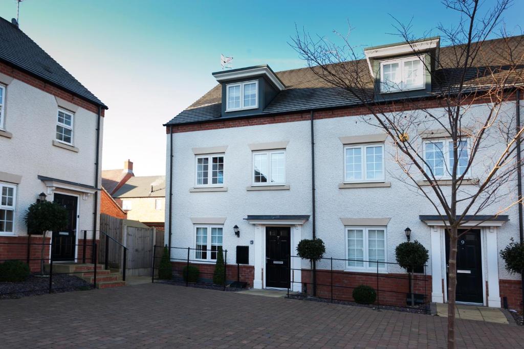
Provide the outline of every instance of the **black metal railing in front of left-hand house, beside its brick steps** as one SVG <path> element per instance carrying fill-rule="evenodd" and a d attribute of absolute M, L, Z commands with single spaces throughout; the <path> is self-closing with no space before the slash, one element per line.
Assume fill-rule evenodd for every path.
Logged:
<path fill-rule="evenodd" d="M 85 240 L 84 240 L 85 241 Z M 52 242 L 46 243 L 46 242 L 0 242 L 0 249 L 4 250 L 6 254 L 12 254 L 17 255 L 17 257 L 14 258 L 2 258 L 0 259 L 0 263 L 5 263 L 7 261 L 20 261 L 20 262 L 26 262 L 26 264 L 29 267 L 29 276 L 25 280 L 21 280 L 19 282 L 4 282 L 6 278 L 11 278 L 13 276 L 17 276 L 19 278 L 25 278 L 27 275 L 25 272 L 20 271 L 18 274 L 9 273 L 2 274 L 2 271 L 0 271 L 0 298 L 3 298 L 2 296 L 9 296 L 14 294 L 42 294 L 42 292 L 48 292 L 53 293 L 61 290 L 67 290 L 72 288 L 95 288 L 96 287 L 96 256 L 97 256 L 97 244 L 94 242 L 92 244 L 92 251 L 91 256 L 86 255 L 86 249 L 85 249 L 85 243 L 84 244 L 67 244 L 67 247 L 73 247 L 74 250 L 78 251 L 78 248 L 80 246 L 82 247 L 82 255 L 77 256 L 78 258 L 73 258 L 71 261 L 65 261 L 62 258 L 56 259 L 52 255 L 52 249 L 53 246 L 56 246 L 56 244 L 53 244 Z M 27 246 L 27 247 L 26 247 Z M 41 254 L 41 249 L 43 247 L 43 254 L 45 256 L 36 258 L 33 257 L 36 254 Z M 35 248 L 38 248 L 38 251 L 35 251 Z M 21 251 L 27 251 L 27 255 L 23 256 Z M 25 254 L 25 253 L 24 253 Z M 93 270 L 89 269 L 81 269 L 81 270 L 75 270 L 75 267 L 72 267 L 72 271 L 70 272 L 57 272 L 56 270 L 53 270 L 53 265 L 56 265 L 57 262 L 71 262 L 74 263 L 75 261 L 82 260 L 83 263 L 90 263 L 93 264 Z M 59 280 L 56 280 L 55 278 L 60 275 L 73 275 L 77 276 L 77 274 L 84 274 L 84 273 L 93 273 L 93 282 L 87 283 L 85 285 L 76 285 L 72 286 L 68 282 L 64 282 L 65 286 L 57 286 L 55 284 L 61 284 Z M 49 282 L 46 283 L 46 286 L 43 286 L 44 283 L 37 282 L 35 283 L 37 277 L 45 277 L 49 278 Z M 38 280 L 39 281 L 39 280 Z M 85 280 L 84 280 L 85 281 Z M 5 287 L 8 284 L 8 287 Z"/>

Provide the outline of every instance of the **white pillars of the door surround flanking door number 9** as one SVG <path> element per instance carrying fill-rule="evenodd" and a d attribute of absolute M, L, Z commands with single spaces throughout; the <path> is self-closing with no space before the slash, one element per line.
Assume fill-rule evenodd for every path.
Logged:
<path fill-rule="evenodd" d="M 442 221 L 437 220 L 428 220 L 425 223 L 431 229 L 431 300 L 443 303 L 447 301 L 445 226 Z M 470 221 L 464 225 L 464 228 L 481 230 L 482 291 L 484 305 L 488 307 L 500 308 L 497 232 L 504 223 L 505 221 Z M 486 297 L 486 281 L 489 297 Z"/>

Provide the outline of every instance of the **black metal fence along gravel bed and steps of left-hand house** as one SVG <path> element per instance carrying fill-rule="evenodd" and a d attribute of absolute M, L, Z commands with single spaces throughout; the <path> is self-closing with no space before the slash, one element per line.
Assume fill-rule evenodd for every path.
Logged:
<path fill-rule="evenodd" d="M 85 236 L 85 235 L 84 235 Z M 85 241 L 85 240 L 84 240 Z M 77 261 L 93 264 L 97 263 L 97 244 L 95 241 L 91 244 L 91 253 L 86 252 L 86 244 L 68 244 L 68 248 L 74 247 L 78 250 Z M 43 248 L 43 256 L 41 249 Z M 68 269 L 64 264 L 60 265 L 52 257 L 50 251 L 53 248 L 52 243 L 46 242 L 0 242 L 0 251 L 4 256 L 13 256 L 11 258 L 0 258 L 0 264 L 7 261 L 20 261 L 29 267 L 29 276 L 24 271 L 4 271 L 0 268 L 0 298 L 9 298 L 16 294 L 42 294 L 43 292 L 57 292 L 71 289 L 94 288 L 96 286 L 97 267 L 90 269 L 77 269 L 72 267 Z M 39 257 L 37 257 L 39 256 Z M 70 261 L 70 262 L 74 262 Z M 67 270 L 67 271 L 65 271 Z M 80 278 L 69 279 L 65 275 L 78 276 L 78 274 L 91 273 L 89 275 L 92 282 L 86 282 Z M 13 276 L 20 280 L 9 282 Z"/>

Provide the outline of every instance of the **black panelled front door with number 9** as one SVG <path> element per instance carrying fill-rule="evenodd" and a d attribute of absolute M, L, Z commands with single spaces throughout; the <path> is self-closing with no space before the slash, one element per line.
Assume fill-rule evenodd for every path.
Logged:
<path fill-rule="evenodd" d="M 464 230 L 459 230 L 459 235 Z M 450 239 L 446 234 L 446 265 L 450 256 Z M 456 301 L 483 303 L 481 231 L 472 229 L 457 242 Z"/>

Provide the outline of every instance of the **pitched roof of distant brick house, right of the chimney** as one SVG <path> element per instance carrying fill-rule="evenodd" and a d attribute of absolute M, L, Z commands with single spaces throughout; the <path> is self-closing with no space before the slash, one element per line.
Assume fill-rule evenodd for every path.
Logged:
<path fill-rule="evenodd" d="M 151 191 L 152 186 L 152 191 Z M 166 176 L 135 176 L 113 194 L 114 198 L 165 197 Z"/>

